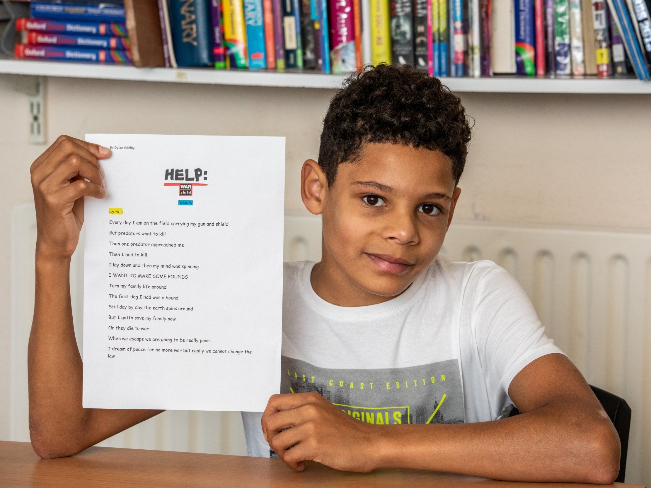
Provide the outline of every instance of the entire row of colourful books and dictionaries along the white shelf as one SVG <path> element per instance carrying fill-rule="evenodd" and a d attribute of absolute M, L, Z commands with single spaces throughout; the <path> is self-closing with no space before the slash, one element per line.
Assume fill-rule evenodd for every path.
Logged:
<path fill-rule="evenodd" d="M 32 1 L 17 55 L 101 46 L 136 66 L 640 79 L 651 62 L 651 0 L 67 1 Z"/>

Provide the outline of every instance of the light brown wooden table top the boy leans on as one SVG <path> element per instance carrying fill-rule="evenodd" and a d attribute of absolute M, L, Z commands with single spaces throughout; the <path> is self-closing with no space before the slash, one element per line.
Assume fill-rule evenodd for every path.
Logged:
<path fill-rule="evenodd" d="M 61 459 L 40 459 L 29 442 L 0 441 L 0 487 L 474 487 L 580 488 L 575 483 L 511 483 L 426 471 L 348 473 L 306 463 L 294 472 L 280 459 L 92 447 Z M 643 485 L 615 483 L 620 487 Z"/>

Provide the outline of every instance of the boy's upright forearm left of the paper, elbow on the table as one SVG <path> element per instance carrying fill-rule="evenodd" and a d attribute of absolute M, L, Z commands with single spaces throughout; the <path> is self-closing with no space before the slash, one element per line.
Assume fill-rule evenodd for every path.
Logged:
<path fill-rule="evenodd" d="M 70 305 L 70 258 L 36 254 L 34 319 L 29 336 L 29 424 L 33 446 L 45 457 L 70 454 L 83 424 L 82 364 Z M 55 441 L 55 442 L 53 442 Z"/>

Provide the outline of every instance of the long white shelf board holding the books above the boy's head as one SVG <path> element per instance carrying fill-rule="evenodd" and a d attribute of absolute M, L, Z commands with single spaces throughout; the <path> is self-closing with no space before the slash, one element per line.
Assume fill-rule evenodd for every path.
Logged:
<path fill-rule="evenodd" d="M 338 88 L 345 76 L 306 72 L 266 72 L 191 68 L 133 68 L 68 62 L 0 60 L 0 74 L 69 78 L 242 85 L 251 87 Z M 516 76 L 441 78 L 454 92 L 651 94 L 651 82 L 637 79 L 551 79 Z"/>

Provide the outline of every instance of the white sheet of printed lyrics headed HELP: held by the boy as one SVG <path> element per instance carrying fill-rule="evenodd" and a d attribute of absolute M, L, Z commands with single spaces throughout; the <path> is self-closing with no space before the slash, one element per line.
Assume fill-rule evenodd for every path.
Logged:
<path fill-rule="evenodd" d="M 279 392 L 284 137 L 87 134 L 83 406 L 262 411 Z"/>

